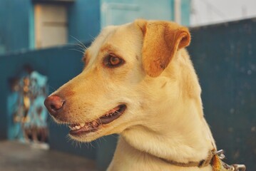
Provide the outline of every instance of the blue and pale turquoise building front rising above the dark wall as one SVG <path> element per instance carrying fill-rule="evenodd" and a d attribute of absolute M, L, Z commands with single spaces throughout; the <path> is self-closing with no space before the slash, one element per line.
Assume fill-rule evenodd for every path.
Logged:
<path fill-rule="evenodd" d="M 189 25 L 190 0 L 181 1 L 182 24 Z M 48 2 L 49 3 L 49 2 Z M 108 15 L 102 4 L 128 4 L 135 10 L 111 9 Z M 92 41 L 111 17 L 111 24 L 123 24 L 137 18 L 174 19 L 174 0 L 76 0 L 68 3 L 68 43 Z M 75 37 L 75 38 L 73 38 Z M 34 4 L 31 0 L 0 1 L 0 54 L 34 48 Z"/>

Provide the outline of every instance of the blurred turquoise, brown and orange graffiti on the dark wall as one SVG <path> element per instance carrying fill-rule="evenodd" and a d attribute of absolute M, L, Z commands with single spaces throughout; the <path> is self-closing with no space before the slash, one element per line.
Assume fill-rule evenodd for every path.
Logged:
<path fill-rule="evenodd" d="M 43 101 L 47 95 L 47 80 L 29 65 L 18 77 L 10 78 L 8 98 L 10 139 L 23 142 L 47 142 L 47 110 Z"/>

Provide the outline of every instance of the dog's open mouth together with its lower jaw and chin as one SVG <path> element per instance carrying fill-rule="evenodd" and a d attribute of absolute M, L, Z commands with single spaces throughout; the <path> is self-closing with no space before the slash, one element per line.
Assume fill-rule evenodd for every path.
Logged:
<path fill-rule="evenodd" d="M 108 130 L 109 125 L 114 120 L 118 120 L 126 112 L 126 108 L 127 106 L 125 104 L 121 104 L 91 122 L 68 123 L 68 127 L 70 128 L 69 137 L 80 142 L 90 142 L 104 135 L 111 134 Z"/>

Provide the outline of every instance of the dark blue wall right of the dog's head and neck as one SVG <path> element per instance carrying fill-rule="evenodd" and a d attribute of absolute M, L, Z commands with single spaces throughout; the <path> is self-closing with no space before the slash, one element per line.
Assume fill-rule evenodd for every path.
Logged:
<path fill-rule="evenodd" d="M 191 28 L 205 118 L 226 162 L 256 170 L 256 20 Z"/>

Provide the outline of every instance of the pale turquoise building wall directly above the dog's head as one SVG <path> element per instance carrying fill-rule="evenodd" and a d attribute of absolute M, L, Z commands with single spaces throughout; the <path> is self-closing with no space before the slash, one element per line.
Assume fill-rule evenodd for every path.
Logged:
<path fill-rule="evenodd" d="M 190 0 L 181 0 L 181 24 L 190 24 Z M 101 26 L 135 19 L 174 20 L 174 0 L 101 0 Z"/>

